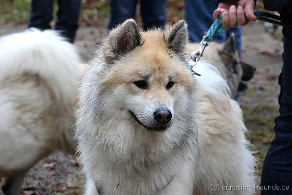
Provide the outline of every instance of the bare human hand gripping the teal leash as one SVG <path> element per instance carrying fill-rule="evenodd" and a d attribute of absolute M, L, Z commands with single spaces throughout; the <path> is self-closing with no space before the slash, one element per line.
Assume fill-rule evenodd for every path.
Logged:
<path fill-rule="evenodd" d="M 237 25 L 246 25 L 250 20 L 256 21 L 254 7 L 255 0 L 222 2 L 214 11 L 213 17 L 216 19 L 222 13 L 222 26 L 225 30 L 228 30 L 230 27 L 237 27 Z"/>

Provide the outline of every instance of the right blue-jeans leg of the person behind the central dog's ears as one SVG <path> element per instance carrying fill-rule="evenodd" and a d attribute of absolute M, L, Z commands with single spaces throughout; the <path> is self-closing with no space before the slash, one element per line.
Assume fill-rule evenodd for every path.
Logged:
<path fill-rule="evenodd" d="M 144 30 L 164 28 L 166 0 L 141 0 L 141 17 Z"/>

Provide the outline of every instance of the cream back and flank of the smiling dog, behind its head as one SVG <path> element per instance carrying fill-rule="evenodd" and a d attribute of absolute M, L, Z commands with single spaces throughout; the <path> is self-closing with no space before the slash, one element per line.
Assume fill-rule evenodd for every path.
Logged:
<path fill-rule="evenodd" d="M 207 61 L 200 61 L 193 68 L 201 86 L 198 96 L 198 141 L 201 161 L 197 177 L 200 178 L 195 194 L 209 195 L 211 185 L 246 186 L 248 191 L 221 191 L 220 195 L 255 194 L 255 158 L 252 145 L 244 134 L 242 111 L 230 98 L 227 82 L 219 71 Z M 206 74 L 207 73 L 207 74 Z M 212 79 L 211 79 L 212 78 Z M 209 82 L 206 82 L 209 79 Z M 213 81 L 213 82 L 212 82 Z"/>

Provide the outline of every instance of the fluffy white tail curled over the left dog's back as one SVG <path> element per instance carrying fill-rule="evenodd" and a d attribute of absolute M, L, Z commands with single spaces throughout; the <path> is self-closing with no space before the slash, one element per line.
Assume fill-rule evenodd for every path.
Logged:
<path fill-rule="evenodd" d="M 57 99 L 73 100 L 79 75 L 73 44 L 56 31 L 35 28 L 0 38 L 0 82 L 21 74 L 38 75 Z"/>

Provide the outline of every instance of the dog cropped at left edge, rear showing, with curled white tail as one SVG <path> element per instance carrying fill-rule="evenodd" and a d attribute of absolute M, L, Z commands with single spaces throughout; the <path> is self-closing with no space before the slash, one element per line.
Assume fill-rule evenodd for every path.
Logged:
<path fill-rule="evenodd" d="M 0 177 L 4 195 L 41 158 L 72 142 L 79 57 L 56 32 L 30 29 L 0 39 Z"/>

